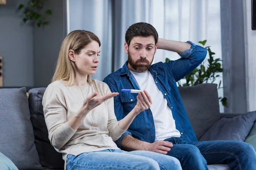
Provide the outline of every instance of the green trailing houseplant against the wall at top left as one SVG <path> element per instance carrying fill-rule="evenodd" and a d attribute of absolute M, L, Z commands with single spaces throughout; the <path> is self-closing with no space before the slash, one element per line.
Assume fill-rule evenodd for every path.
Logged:
<path fill-rule="evenodd" d="M 35 21 L 37 26 L 47 25 L 49 20 L 47 16 L 52 14 L 50 9 L 46 10 L 44 13 L 41 10 L 44 7 L 45 0 L 30 0 L 28 5 L 20 4 L 18 10 L 24 9 L 23 11 L 23 22 L 26 23 L 28 20 Z"/>

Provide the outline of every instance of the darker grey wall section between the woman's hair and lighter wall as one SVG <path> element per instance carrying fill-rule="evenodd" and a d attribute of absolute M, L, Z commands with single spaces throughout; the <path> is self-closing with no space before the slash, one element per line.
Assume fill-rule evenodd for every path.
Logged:
<path fill-rule="evenodd" d="M 34 86 L 47 87 L 54 74 L 55 63 L 66 36 L 65 0 L 48 0 L 44 9 L 51 9 L 50 23 L 34 30 Z"/>

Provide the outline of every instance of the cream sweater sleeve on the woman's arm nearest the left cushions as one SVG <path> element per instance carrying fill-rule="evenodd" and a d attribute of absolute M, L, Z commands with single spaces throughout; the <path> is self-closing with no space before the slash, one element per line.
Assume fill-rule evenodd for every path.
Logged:
<path fill-rule="evenodd" d="M 67 122 L 67 108 L 61 89 L 50 84 L 44 93 L 42 104 L 49 140 L 53 147 L 61 149 L 76 133 Z"/>

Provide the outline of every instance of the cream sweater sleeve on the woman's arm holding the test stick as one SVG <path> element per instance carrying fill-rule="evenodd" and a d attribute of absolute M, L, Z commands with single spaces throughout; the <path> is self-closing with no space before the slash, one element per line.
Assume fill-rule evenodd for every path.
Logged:
<path fill-rule="evenodd" d="M 109 89 L 108 85 L 106 84 L 107 90 L 105 94 L 112 93 L 111 90 Z M 113 139 L 115 142 L 117 139 L 119 139 L 123 133 L 125 133 L 125 130 L 122 130 L 119 127 L 119 121 L 117 122 L 116 115 L 114 112 L 114 100 L 113 97 L 111 99 L 107 100 L 107 105 L 108 105 L 108 132 L 109 136 Z"/>

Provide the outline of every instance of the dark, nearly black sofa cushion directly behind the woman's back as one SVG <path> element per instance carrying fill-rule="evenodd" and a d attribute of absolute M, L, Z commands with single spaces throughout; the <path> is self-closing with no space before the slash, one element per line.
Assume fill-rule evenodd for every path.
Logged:
<path fill-rule="evenodd" d="M 35 145 L 38 150 L 40 163 L 45 169 L 63 169 L 62 154 L 52 147 L 48 130 L 45 124 L 42 98 L 46 88 L 33 88 L 29 90 L 29 110 L 34 129 Z"/>

